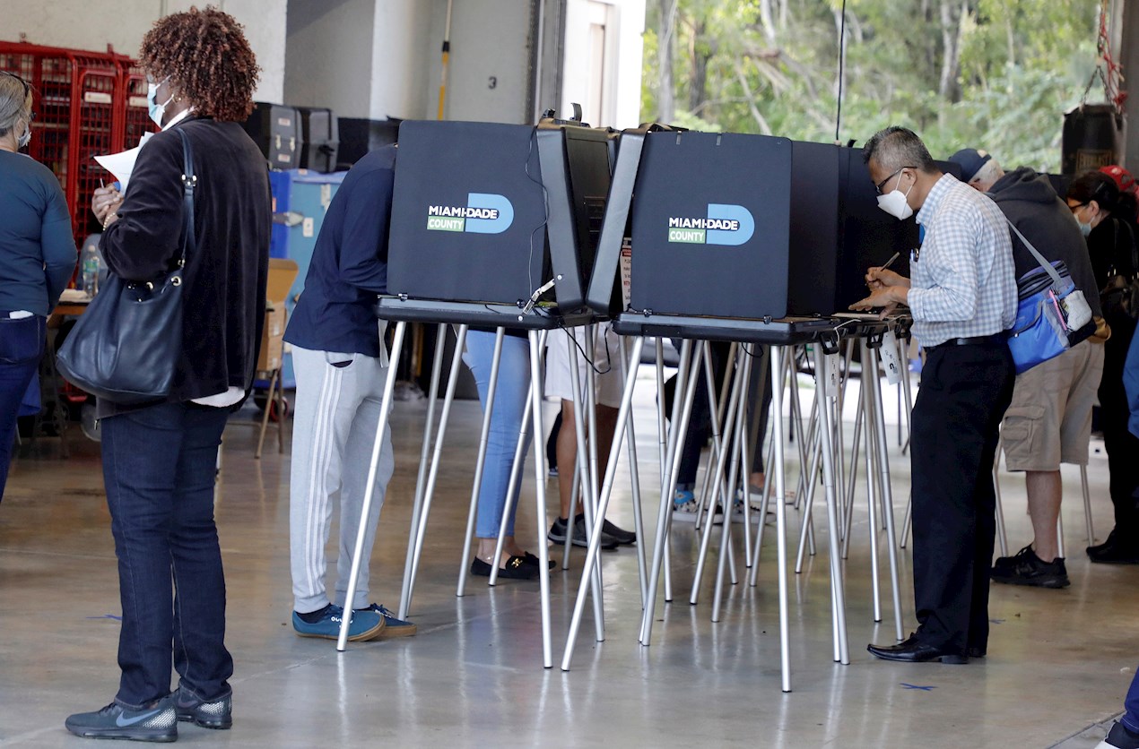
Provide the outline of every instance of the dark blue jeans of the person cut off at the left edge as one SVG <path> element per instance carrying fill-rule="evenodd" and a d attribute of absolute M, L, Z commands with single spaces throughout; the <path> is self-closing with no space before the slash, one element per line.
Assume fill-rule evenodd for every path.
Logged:
<path fill-rule="evenodd" d="M 0 500 L 8 483 L 19 402 L 43 356 L 46 323 L 38 314 L 13 320 L 0 312 Z"/>

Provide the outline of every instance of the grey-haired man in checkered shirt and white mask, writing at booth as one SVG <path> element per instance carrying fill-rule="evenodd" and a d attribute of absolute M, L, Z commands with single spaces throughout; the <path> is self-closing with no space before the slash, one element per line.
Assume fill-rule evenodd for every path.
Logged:
<path fill-rule="evenodd" d="M 1008 225 L 997 205 L 942 174 L 921 140 L 887 127 L 863 149 L 878 204 L 924 229 L 911 278 L 871 268 L 870 296 L 854 310 L 907 304 L 926 349 L 913 403 L 913 598 L 918 629 L 886 660 L 964 664 L 989 645 L 989 569 L 995 535 L 992 464 L 1013 397 L 1005 331 L 1016 318 Z"/>

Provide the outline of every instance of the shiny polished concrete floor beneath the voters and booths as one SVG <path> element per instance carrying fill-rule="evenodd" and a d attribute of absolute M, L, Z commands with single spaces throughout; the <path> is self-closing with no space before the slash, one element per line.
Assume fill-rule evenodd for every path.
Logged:
<path fill-rule="evenodd" d="M 637 398 L 649 524 L 658 491 L 652 389 L 646 380 Z M 420 401 L 398 403 L 393 414 L 396 472 L 372 562 L 372 598 L 393 609 L 425 413 Z M 887 402 L 887 420 L 892 413 Z M 235 421 L 251 418 L 243 412 Z M 760 585 L 732 586 L 722 620 L 713 624 L 712 570 L 706 571 L 700 603 L 687 601 L 696 545 L 693 528 L 682 524 L 674 526 L 675 600 L 658 601 L 652 647 L 637 642 L 637 562 L 634 552 L 623 548 L 604 555 L 605 641 L 595 641 L 587 619 L 573 670 L 557 667 L 576 592 L 577 555 L 573 569 L 551 575 L 555 668 L 542 669 L 536 581 L 502 581 L 490 588 L 485 578 L 473 578 L 466 595 L 456 596 L 477 403 L 456 403 L 452 419 L 412 606 L 419 634 L 351 644 L 344 653 L 333 642 L 295 636 L 288 624 L 287 453 L 278 455 L 270 442 L 264 458 L 253 460 L 255 431 L 236 423 L 227 430 L 216 515 L 229 586 L 228 644 L 236 660 L 235 725 L 213 732 L 182 724 L 179 741 L 227 747 L 1090 749 L 1103 738 L 1105 722 L 1122 709 L 1139 651 L 1139 568 L 1087 561 L 1077 470 L 1064 472 L 1072 586 L 994 586 L 989 657 L 967 666 L 891 664 L 865 651 L 870 641 L 892 641 L 894 626 L 885 571 L 884 620 L 871 620 L 861 500 L 846 562 L 851 664 L 831 660 L 827 562 L 820 553 L 790 582 L 794 691 L 785 694 L 775 543 L 765 542 Z M 0 504 L 0 746 L 84 746 L 64 730 L 64 718 L 106 705 L 117 686 L 117 577 L 98 446 L 77 428 L 68 434 L 68 444 L 69 459 L 59 456 L 57 439 L 24 446 Z M 901 528 L 909 461 L 893 430 L 891 447 Z M 1111 503 L 1101 454 L 1092 458 L 1089 476 L 1096 533 L 1103 538 L 1111 529 Z M 555 486 L 551 480 L 549 488 Z M 618 488 L 609 517 L 631 526 L 628 479 Z M 1002 491 L 1015 551 L 1030 536 L 1023 480 L 1003 474 Z M 518 533 L 533 549 L 532 492 L 524 494 Z M 555 505 L 551 499 L 549 507 Z M 797 538 L 798 516 L 788 517 Z M 821 524 L 818 530 L 822 552 L 827 534 Z M 773 533 L 769 529 L 768 542 Z M 885 534 L 879 538 L 885 543 Z M 915 626 L 908 554 L 901 559 L 908 633 Z"/>

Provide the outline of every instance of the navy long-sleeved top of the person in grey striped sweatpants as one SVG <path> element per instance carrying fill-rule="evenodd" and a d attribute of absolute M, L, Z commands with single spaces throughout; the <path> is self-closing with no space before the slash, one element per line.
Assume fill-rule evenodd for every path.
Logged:
<path fill-rule="evenodd" d="M 312 250 L 304 293 L 285 340 L 311 351 L 379 356 L 376 295 L 387 291 L 387 227 L 395 147 L 361 158 L 344 176 Z"/>

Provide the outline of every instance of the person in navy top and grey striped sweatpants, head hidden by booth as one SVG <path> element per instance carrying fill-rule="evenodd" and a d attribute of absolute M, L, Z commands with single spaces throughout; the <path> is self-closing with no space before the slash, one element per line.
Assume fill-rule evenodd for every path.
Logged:
<path fill-rule="evenodd" d="M 349 171 L 328 206 L 304 291 L 285 330 L 296 373 L 289 499 L 293 628 L 303 637 L 335 640 L 349 606 L 343 599 L 387 379 L 385 323 L 376 318 L 375 307 L 377 295 L 387 290 L 394 179 L 394 146 L 371 151 Z M 416 625 L 369 603 L 371 546 L 394 469 L 392 431 L 385 427 L 349 640 L 416 632 Z M 336 496 L 341 538 L 330 595 L 325 588 L 325 545 Z"/>

